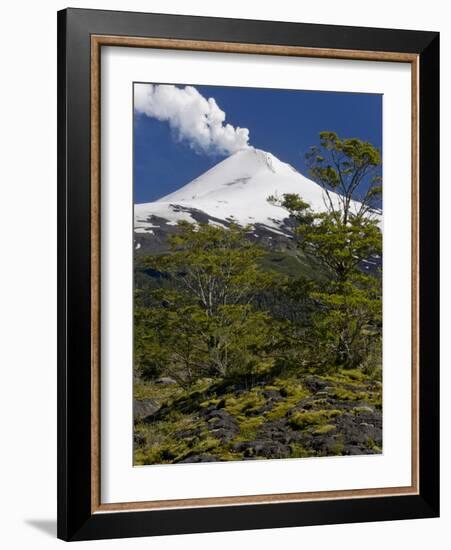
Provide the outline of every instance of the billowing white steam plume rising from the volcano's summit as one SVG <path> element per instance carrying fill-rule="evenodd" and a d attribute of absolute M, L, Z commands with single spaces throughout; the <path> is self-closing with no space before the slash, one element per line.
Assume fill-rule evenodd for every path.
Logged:
<path fill-rule="evenodd" d="M 168 122 L 197 152 L 232 154 L 249 147 L 249 130 L 224 124 L 226 114 L 214 98 L 206 99 L 193 86 L 135 84 L 134 94 L 136 112 Z"/>

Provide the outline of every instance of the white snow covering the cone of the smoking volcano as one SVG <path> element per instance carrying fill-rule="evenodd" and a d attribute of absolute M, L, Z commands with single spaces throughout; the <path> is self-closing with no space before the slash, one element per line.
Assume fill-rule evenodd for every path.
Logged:
<path fill-rule="evenodd" d="M 268 202 L 270 195 L 297 193 L 315 211 L 324 211 L 324 191 L 271 153 L 249 147 L 155 202 L 135 205 L 135 231 L 151 233 L 179 220 L 227 225 L 256 224 L 274 233 L 289 233 L 288 211 Z M 337 196 L 331 193 L 334 201 Z M 221 223 L 221 222 L 225 222 Z"/>

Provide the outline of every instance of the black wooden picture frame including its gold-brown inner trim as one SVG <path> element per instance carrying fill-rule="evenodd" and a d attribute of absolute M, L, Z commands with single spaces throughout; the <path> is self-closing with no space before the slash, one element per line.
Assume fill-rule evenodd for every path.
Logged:
<path fill-rule="evenodd" d="M 103 46 L 393 61 L 412 67 L 412 483 L 103 504 L 100 499 L 100 51 Z M 67 9 L 58 13 L 58 537 L 436 517 L 439 513 L 439 35 Z"/>

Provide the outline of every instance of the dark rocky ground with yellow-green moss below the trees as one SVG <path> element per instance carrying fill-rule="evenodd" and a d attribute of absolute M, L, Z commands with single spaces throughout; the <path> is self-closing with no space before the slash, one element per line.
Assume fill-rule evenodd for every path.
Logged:
<path fill-rule="evenodd" d="M 135 383 L 135 464 L 382 452 L 382 383 L 361 371 L 279 376 L 252 388 Z"/>

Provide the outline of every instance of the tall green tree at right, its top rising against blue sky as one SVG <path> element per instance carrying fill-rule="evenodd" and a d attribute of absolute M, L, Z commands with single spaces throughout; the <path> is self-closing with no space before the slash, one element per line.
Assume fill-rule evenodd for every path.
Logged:
<path fill-rule="evenodd" d="M 309 291 L 315 303 L 311 357 L 322 368 L 353 368 L 380 340 L 381 281 L 362 272 L 363 262 L 382 254 L 374 216 L 382 191 L 380 153 L 367 142 L 321 132 L 320 147 L 309 150 L 307 162 L 324 189 L 326 211 L 313 212 L 296 194 L 284 195 L 278 204 L 296 220 L 299 248 L 319 260 L 324 275 Z"/>

